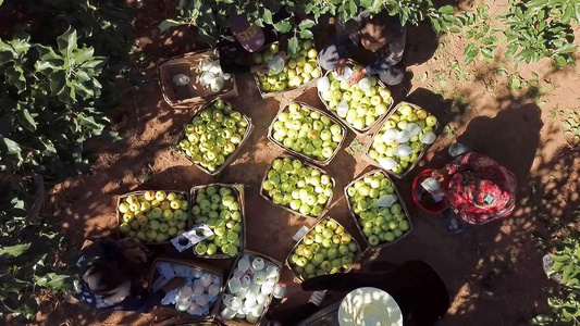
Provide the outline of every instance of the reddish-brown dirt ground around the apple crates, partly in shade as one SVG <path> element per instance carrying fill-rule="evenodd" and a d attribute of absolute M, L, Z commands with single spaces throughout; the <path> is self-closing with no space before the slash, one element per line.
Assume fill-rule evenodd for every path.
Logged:
<path fill-rule="evenodd" d="M 159 34 L 157 26 L 162 18 L 171 16 L 173 2 L 129 1 L 128 5 L 143 5 L 135 22 L 138 50 L 132 57 L 132 65 L 147 83 L 129 89 L 123 104 L 110 113 L 113 128 L 121 133 L 123 141 L 90 143 L 89 150 L 96 159 L 92 172 L 58 185 L 49 193 L 45 210 L 64 216 L 63 228 L 82 243 L 85 238 L 115 235 L 115 200 L 124 192 L 189 190 L 192 186 L 213 181 L 242 183 L 247 195 L 247 248 L 283 261 L 295 244 L 293 235 L 313 221 L 292 215 L 259 196 L 267 166 L 283 153 L 267 139 L 267 128 L 281 105 L 292 100 L 323 109 L 316 89 L 263 100 L 251 76 L 238 76 L 239 97 L 230 101 L 252 120 L 255 130 L 236 160 L 220 175 L 211 177 L 175 150 L 192 112 L 173 110 L 163 101 L 156 68 L 162 59 L 202 45 L 188 28 Z M 491 12 L 496 14 L 505 10 L 507 0 L 491 5 Z M 332 26 L 319 25 L 316 39 L 319 48 L 329 36 L 329 28 Z M 554 72 L 550 62 L 522 64 L 515 70 L 501 58 L 464 66 L 465 43 L 459 35 L 437 39 L 429 26 L 409 28 L 405 59 L 408 73 L 404 83 L 392 91 L 397 102 L 406 98 L 423 105 L 443 126 L 448 125 L 447 133 L 440 130 L 441 136 L 420 166 L 444 165 L 445 148 L 456 140 L 470 145 L 514 171 L 519 183 L 518 206 L 508 218 L 460 235 L 448 235 L 437 216 L 422 214 L 410 204 L 409 185 L 420 171 L 418 166 L 406 178 L 396 180 L 411 212 L 412 233 L 380 252 L 368 252 L 361 269 L 372 260 L 425 261 L 441 275 L 453 298 L 442 325 L 525 325 L 547 310 L 543 288 L 550 281 L 542 272 L 542 253 L 535 250 L 533 236 L 544 230 L 546 218 L 570 216 L 580 203 L 577 181 L 580 155 L 566 142 L 558 113 L 579 110 L 580 77 L 576 67 Z M 459 62 L 458 67 L 453 67 L 454 61 Z M 532 87 L 510 91 L 507 77 L 497 75 L 501 68 L 528 80 L 536 73 L 535 87 L 547 89 L 547 93 L 538 97 Z M 356 146 L 349 146 L 353 140 L 355 135 L 350 131 L 345 146 L 326 167 L 336 180 L 329 215 L 363 243 L 349 215 L 343 188 L 373 167 L 360 158 Z M 356 140 L 369 141 L 365 137 Z M 168 249 L 165 254 L 175 253 Z M 231 263 L 221 263 L 224 273 Z M 282 278 L 288 286 L 289 299 L 281 306 L 304 303 L 309 293 L 293 283 L 292 272 L 285 268 Z M 338 298 L 338 294 L 330 297 Z M 157 312 L 139 315 L 89 311 L 70 299 L 45 306 L 39 318 L 46 325 L 151 325 L 165 318 Z"/>

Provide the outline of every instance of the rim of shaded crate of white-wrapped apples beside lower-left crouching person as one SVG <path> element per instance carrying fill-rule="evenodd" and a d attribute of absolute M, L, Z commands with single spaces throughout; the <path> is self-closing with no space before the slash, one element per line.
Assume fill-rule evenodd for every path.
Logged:
<path fill-rule="evenodd" d="M 200 272 L 203 272 L 203 273 L 213 274 L 214 276 L 217 276 L 220 279 L 221 287 L 220 287 L 220 293 L 218 294 L 218 300 L 215 300 L 215 302 L 213 302 L 213 306 L 211 308 L 209 314 L 206 315 L 206 316 L 195 316 L 195 315 L 188 314 L 185 311 L 178 311 L 178 310 L 175 309 L 175 305 L 173 305 L 173 304 L 163 305 L 163 304 L 159 303 L 158 305 L 156 305 L 158 309 L 160 309 L 160 310 L 162 310 L 164 312 L 168 312 L 168 313 L 171 313 L 171 314 L 181 315 L 181 316 L 186 316 L 187 318 L 190 318 L 192 322 L 212 322 L 215 318 L 215 315 L 218 314 L 218 310 L 220 308 L 219 303 L 220 303 L 220 300 L 221 300 L 221 296 L 223 294 L 223 291 L 225 289 L 224 281 L 223 281 L 223 271 L 221 271 L 219 268 L 215 268 L 214 266 L 205 265 L 205 264 L 200 264 L 200 263 L 195 263 L 194 264 L 194 263 L 185 261 L 185 260 L 177 260 L 177 259 L 171 259 L 171 258 L 158 258 L 158 259 L 155 260 L 153 264 L 151 265 L 151 271 L 149 272 L 149 279 L 148 279 L 148 283 L 147 283 L 147 289 L 149 290 L 149 292 L 152 291 L 151 285 L 153 284 L 156 278 L 159 276 L 159 272 L 156 268 L 156 266 L 159 263 L 170 263 L 172 265 L 187 266 L 187 267 L 190 267 L 193 269 L 197 269 L 197 271 L 200 271 Z"/>

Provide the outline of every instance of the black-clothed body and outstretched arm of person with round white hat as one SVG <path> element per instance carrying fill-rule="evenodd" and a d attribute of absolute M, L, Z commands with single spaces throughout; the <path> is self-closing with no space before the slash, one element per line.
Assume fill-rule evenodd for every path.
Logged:
<path fill-rule="evenodd" d="M 323 290 L 351 291 L 373 287 L 386 291 L 397 302 L 405 325 L 429 326 L 437 323 L 449 308 L 445 284 L 431 266 L 421 261 L 403 265 L 377 262 L 378 274 L 346 273 L 319 276 L 303 283 L 305 291 L 316 291 L 305 305 L 274 312 L 271 325 L 295 325 L 319 310 Z M 321 299 L 322 297 L 322 299 Z"/>

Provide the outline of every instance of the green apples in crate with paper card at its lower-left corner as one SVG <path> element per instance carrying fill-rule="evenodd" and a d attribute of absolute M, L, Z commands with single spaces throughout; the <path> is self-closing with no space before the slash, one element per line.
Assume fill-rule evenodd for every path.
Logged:
<path fill-rule="evenodd" d="M 231 187 L 209 186 L 195 190 L 192 214 L 196 224 L 206 224 L 213 236 L 195 247 L 198 255 L 211 256 L 218 252 L 236 255 L 242 248 L 243 224 L 240 203 Z"/>

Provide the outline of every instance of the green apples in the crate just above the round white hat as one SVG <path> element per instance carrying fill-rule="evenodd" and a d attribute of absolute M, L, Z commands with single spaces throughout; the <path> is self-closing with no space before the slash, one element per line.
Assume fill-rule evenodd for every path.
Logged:
<path fill-rule="evenodd" d="M 353 237 L 336 221 L 317 224 L 288 256 L 288 264 L 301 280 L 347 272 L 358 251 Z"/>

